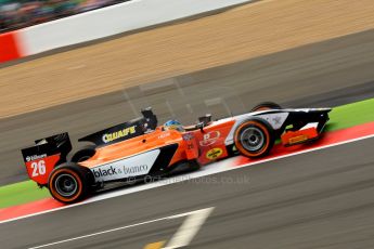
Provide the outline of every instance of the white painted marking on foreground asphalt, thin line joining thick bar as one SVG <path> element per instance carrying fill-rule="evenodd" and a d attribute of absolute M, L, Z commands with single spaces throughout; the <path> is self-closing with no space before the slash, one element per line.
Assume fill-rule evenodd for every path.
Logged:
<path fill-rule="evenodd" d="M 140 223 L 131 224 L 131 225 L 126 225 L 126 226 L 120 226 L 120 227 L 116 227 L 116 228 L 112 228 L 112 230 L 101 231 L 101 232 L 93 233 L 93 234 L 87 234 L 87 235 L 82 235 L 82 236 L 78 236 L 78 237 L 63 239 L 60 241 L 49 243 L 49 244 L 40 245 L 37 247 L 30 247 L 28 249 L 39 249 L 39 248 L 51 247 L 51 246 L 61 245 L 64 243 L 75 241 L 75 240 L 79 240 L 79 239 L 83 239 L 83 238 L 99 236 L 102 234 L 108 234 L 108 233 L 113 233 L 113 232 L 117 232 L 117 231 L 121 231 L 121 230 L 127 230 L 127 228 L 131 228 L 134 226 L 146 225 L 146 224 L 155 223 L 158 221 L 172 220 L 172 219 L 178 219 L 178 218 L 182 218 L 182 217 L 188 217 L 186 220 L 181 225 L 181 227 L 178 230 L 178 232 L 171 238 L 170 243 L 168 244 L 167 249 L 184 247 L 191 243 L 193 237 L 197 234 L 201 226 L 204 224 L 204 222 L 206 221 L 206 219 L 209 217 L 209 214 L 211 213 L 211 211 L 214 209 L 215 208 L 211 207 L 211 208 L 195 210 L 192 212 L 179 213 L 176 215 L 159 218 L 159 219 L 144 221 L 144 222 L 140 222 Z"/>

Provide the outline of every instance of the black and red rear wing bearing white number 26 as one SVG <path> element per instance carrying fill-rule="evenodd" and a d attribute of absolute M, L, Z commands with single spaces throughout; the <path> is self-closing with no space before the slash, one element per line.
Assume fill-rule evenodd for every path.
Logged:
<path fill-rule="evenodd" d="M 35 144 L 22 149 L 22 156 L 28 176 L 39 185 L 46 185 L 53 168 L 66 162 L 66 156 L 72 150 L 70 139 L 65 132 L 36 140 Z"/>

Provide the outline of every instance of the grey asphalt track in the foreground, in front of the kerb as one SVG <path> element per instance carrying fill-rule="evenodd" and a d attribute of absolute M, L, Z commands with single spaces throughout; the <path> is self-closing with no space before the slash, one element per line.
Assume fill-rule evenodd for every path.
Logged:
<path fill-rule="evenodd" d="M 366 139 L 4 223 L 1 248 L 29 248 L 210 207 L 191 248 L 373 248 L 373 147 L 374 139 Z M 46 248 L 144 248 L 169 240 L 183 220 Z"/>

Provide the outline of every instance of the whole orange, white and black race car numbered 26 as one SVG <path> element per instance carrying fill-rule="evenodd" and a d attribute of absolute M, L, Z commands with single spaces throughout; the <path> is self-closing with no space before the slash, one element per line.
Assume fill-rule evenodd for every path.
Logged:
<path fill-rule="evenodd" d="M 62 202 L 76 202 L 104 183 L 167 175 L 233 155 L 263 157 L 274 141 L 292 146 L 319 139 L 331 108 L 282 109 L 262 103 L 248 114 L 216 121 L 199 117 L 190 127 L 157 126 L 151 108 L 142 117 L 80 139 L 93 143 L 72 159 L 67 133 L 35 141 L 22 149 L 27 173 Z"/>

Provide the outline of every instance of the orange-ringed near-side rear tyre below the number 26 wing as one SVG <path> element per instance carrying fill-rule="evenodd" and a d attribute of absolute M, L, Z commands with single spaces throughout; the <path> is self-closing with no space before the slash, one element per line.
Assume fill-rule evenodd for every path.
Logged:
<path fill-rule="evenodd" d="M 48 188 L 52 197 L 61 202 L 77 202 L 90 193 L 92 172 L 75 163 L 64 163 L 51 172 Z"/>

